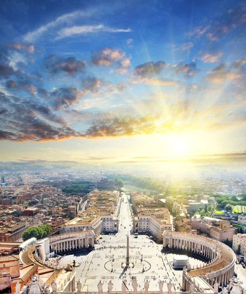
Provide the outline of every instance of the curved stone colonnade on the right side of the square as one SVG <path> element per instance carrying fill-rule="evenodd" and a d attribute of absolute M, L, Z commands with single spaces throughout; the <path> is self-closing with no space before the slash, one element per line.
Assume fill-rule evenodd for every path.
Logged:
<path fill-rule="evenodd" d="M 215 282 L 220 286 L 228 284 L 234 276 L 235 253 L 231 248 L 219 241 L 203 236 L 165 231 L 163 234 L 163 248 L 166 247 L 190 251 L 209 260 L 200 267 L 197 266 L 191 269 L 189 265 L 187 270 L 183 270 L 183 291 L 189 291 L 189 285 L 194 278 L 200 277 L 213 287 Z"/>

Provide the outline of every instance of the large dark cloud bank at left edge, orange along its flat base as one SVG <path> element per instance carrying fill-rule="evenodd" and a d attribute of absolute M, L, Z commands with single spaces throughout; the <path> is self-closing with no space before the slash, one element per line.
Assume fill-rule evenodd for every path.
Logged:
<path fill-rule="evenodd" d="M 5 125 L 5 129 L 0 132 L 0 140 L 48 141 L 78 136 L 61 117 L 41 102 L 34 103 L 28 98 L 6 96 L 0 92 L 0 103 L 5 107 L 0 110 L 0 122 Z"/>

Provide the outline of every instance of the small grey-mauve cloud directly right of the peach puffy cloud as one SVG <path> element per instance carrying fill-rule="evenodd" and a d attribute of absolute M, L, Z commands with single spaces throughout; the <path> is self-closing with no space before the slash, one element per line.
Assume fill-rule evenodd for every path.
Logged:
<path fill-rule="evenodd" d="M 134 74 L 138 77 L 152 77 L 167 67 L 168 64 L 166 64 L 164 61 L 149 61 L 135 67 Z"/>

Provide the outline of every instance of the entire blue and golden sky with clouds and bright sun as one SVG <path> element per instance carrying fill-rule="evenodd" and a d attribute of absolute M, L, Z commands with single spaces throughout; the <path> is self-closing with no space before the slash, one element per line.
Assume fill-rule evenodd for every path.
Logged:
<path fill-rule="evenodd" d="M 0 1 L 0 160 L 246 156 L 246 3 Z"/>

